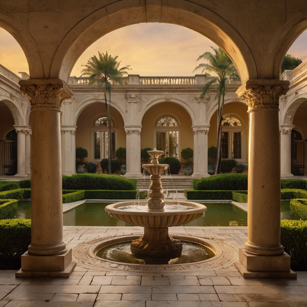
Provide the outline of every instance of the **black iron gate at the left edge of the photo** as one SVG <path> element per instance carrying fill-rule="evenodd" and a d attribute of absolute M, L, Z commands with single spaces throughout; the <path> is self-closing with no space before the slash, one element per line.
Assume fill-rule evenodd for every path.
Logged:
<path fill-rule="evenodd" d="M 2 153 L 2 174 L 17 174 L 17 140 L 0 140 Z"/>

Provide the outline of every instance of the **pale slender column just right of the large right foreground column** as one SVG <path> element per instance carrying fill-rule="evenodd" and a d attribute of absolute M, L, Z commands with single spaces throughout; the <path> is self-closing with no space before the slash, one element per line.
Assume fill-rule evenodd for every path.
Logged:
<path fill-rule="evenodd" d="M 294 125 L 280 126 L 280 176 L 291 177 L 291 131 Z"/>

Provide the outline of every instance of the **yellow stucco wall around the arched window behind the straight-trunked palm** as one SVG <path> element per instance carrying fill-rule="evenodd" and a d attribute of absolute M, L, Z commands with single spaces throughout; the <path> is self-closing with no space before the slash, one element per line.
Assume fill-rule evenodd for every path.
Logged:
<path fill-rule="evenodd" d="M 93 103 L 90 106 L 86 107 L 80 114 L 77 120 L 77 129 L 76 129 L 76 147 L 83 147 L 88 151 L 88 157 L 83 159 L 83 162 L 90 162 L 92 157 L 92 145 L 91 145 L 91 134 L 92 128 L 94 127 L 94 119 L 97 118 L 99 114 L 103 113 L 107 116 L 107 111 L 105 104 Z M 115 139 L 117 142 L 116 148 L 126 147 L 126 134 L 124 129 L 124 121 L 122 119 L 122 115 L 120 115 L 119 111 L 115 108 L 111 107 L 111 118 L 115 120 L 115 128 L 117 128 L 117 133 L 115 135 Z M 100 167 L 100 166 L 99 166 Z"/>

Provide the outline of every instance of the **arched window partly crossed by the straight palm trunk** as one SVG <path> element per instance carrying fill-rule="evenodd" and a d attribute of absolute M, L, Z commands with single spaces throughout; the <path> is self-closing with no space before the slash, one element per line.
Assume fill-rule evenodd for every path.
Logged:
<path fill-rule="evenodd" d="M 111 121 L 111 157 L 115 158 L 115 130 L 114 121 Z M 109 131 L 108 131 L 108 119 L 107 117 L 99 117 L 94 122 L 94 159 L 99 161 L 101 159 L 108 158 L 109 152 Z"/>

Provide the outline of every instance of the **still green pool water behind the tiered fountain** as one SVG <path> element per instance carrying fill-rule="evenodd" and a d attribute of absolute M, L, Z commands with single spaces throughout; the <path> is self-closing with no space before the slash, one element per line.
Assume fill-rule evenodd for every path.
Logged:
<path fill-rule="evenodd" d="M 63 214 L 64 226 L 133 226 L 111 217 L 104 208 L 109 203 L 86 203 Z M 247 226 L 247 212 L 230 203 L 209 203 L 207 211 L 185 226 Z M 282 220 L 299 220 L 290 212 L 290 201 L 281 203 Z M 19 201 L 16 218 L 31 218 L 31 202 Z"/>

